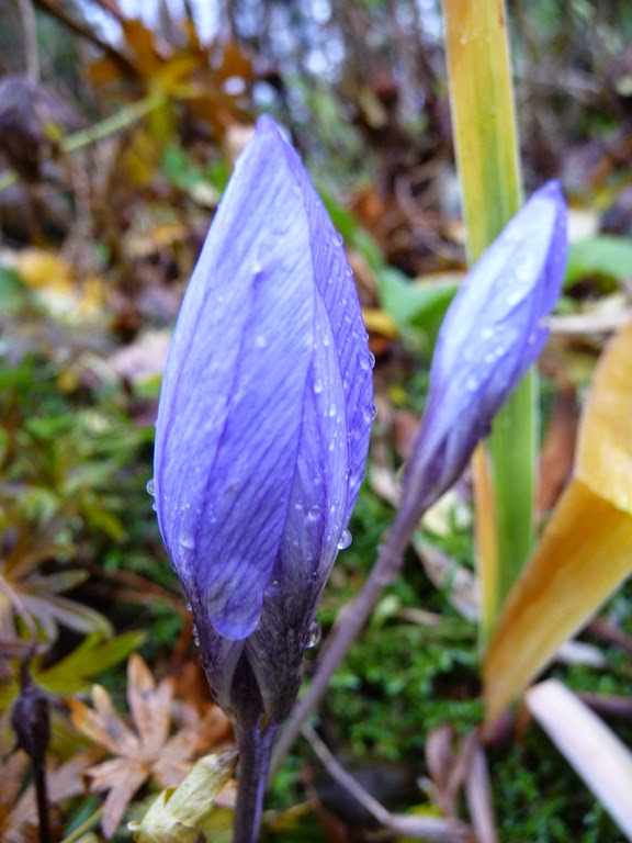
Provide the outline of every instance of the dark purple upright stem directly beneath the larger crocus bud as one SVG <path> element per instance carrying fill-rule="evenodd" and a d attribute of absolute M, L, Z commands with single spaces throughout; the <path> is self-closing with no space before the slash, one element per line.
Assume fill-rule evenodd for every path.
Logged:
<path fill-rule="evenodd" d="M 263 730 L 259 724 L 248 724 L 238 730 L 239 768 L 233 843 L 257 843 L 259 840 L 263 797 L 276 730 L 276 724 Z"/>

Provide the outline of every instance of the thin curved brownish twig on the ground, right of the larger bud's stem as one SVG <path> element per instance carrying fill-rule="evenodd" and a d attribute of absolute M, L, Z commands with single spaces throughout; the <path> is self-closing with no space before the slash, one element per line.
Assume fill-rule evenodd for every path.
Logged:
<path fill-rule="evenodd" d="M 437 843 L 458 843 L 458 841 L 471 840 L 470 829 L 458 820 L 443 817 L 407 817 L 391 813 L 353 776 L 347 773 L 308 723 L 305 723 L 301 731 L 331 778 L 338 782 L 381 825 L 413 840 L 436 841 Z"/>

